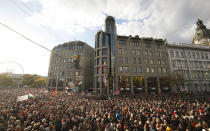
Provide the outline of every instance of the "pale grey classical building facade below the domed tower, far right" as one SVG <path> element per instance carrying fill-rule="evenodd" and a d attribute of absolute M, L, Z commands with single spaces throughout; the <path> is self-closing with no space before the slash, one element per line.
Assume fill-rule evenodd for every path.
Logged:
<path fill-rule="evenodd" d="M 188 93 L 210 92 L 210 46 L 168 44 L 167 48 L 171 73 L 183 77 L 179 87 Z"/>

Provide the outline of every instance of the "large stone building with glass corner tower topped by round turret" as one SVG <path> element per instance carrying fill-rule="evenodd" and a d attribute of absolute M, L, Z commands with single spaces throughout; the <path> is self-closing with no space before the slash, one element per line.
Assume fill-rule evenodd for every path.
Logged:
<path fill-rule="evenodd" d="M 108 16 L 105 32 L 99 31 L 95 36 L 96 91 L 101 95 L 116 90 L 126 94 L 170 91 L 164 81 L 170 74 L 166 41 L 118 36 L 116 32 L 115 20 Z"/>

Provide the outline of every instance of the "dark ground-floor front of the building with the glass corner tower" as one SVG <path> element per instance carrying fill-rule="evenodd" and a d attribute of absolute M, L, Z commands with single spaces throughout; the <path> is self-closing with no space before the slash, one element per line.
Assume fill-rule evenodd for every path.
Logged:
<path fill-rule="evenodd" d="M 107 84 L 106 77 L 95 77 L 95 89 L 97 93 L 102 95 L 114 94 L 120 91 L 122 94 L 160 94 L 169 93 L 171 88 L 169 83 L 161 76 L 117 76 L 114 82 Z"/>

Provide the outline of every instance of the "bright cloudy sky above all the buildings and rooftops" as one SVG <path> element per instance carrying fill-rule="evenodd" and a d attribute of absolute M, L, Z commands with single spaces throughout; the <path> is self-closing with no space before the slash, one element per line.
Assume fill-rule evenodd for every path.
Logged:
<path fill-rule="evenodd" d="M 210 0 L 0 0 L 0 22 L 49 49 L 72 40 L 94 47 L 108 15 L 115 17 L 118 35 L 191 43 L 197 18 L 210 28 L 209 5 Z M 20 64 L 24 73 L 47 76 L 49 57 L 0 25 L 0 72 L 22 73 Z"/>

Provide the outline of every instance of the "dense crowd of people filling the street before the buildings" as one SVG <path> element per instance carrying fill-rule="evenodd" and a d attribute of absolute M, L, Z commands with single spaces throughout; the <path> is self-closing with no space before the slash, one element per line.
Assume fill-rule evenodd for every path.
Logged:
<path fill-rule="evenodd" d="M 29 91 L 34 98 L 16 101 Z M 209 100 L 186 94 L 96 100 L 65 92 L 0 89 L 0 131 L 208 131 Z"/>

